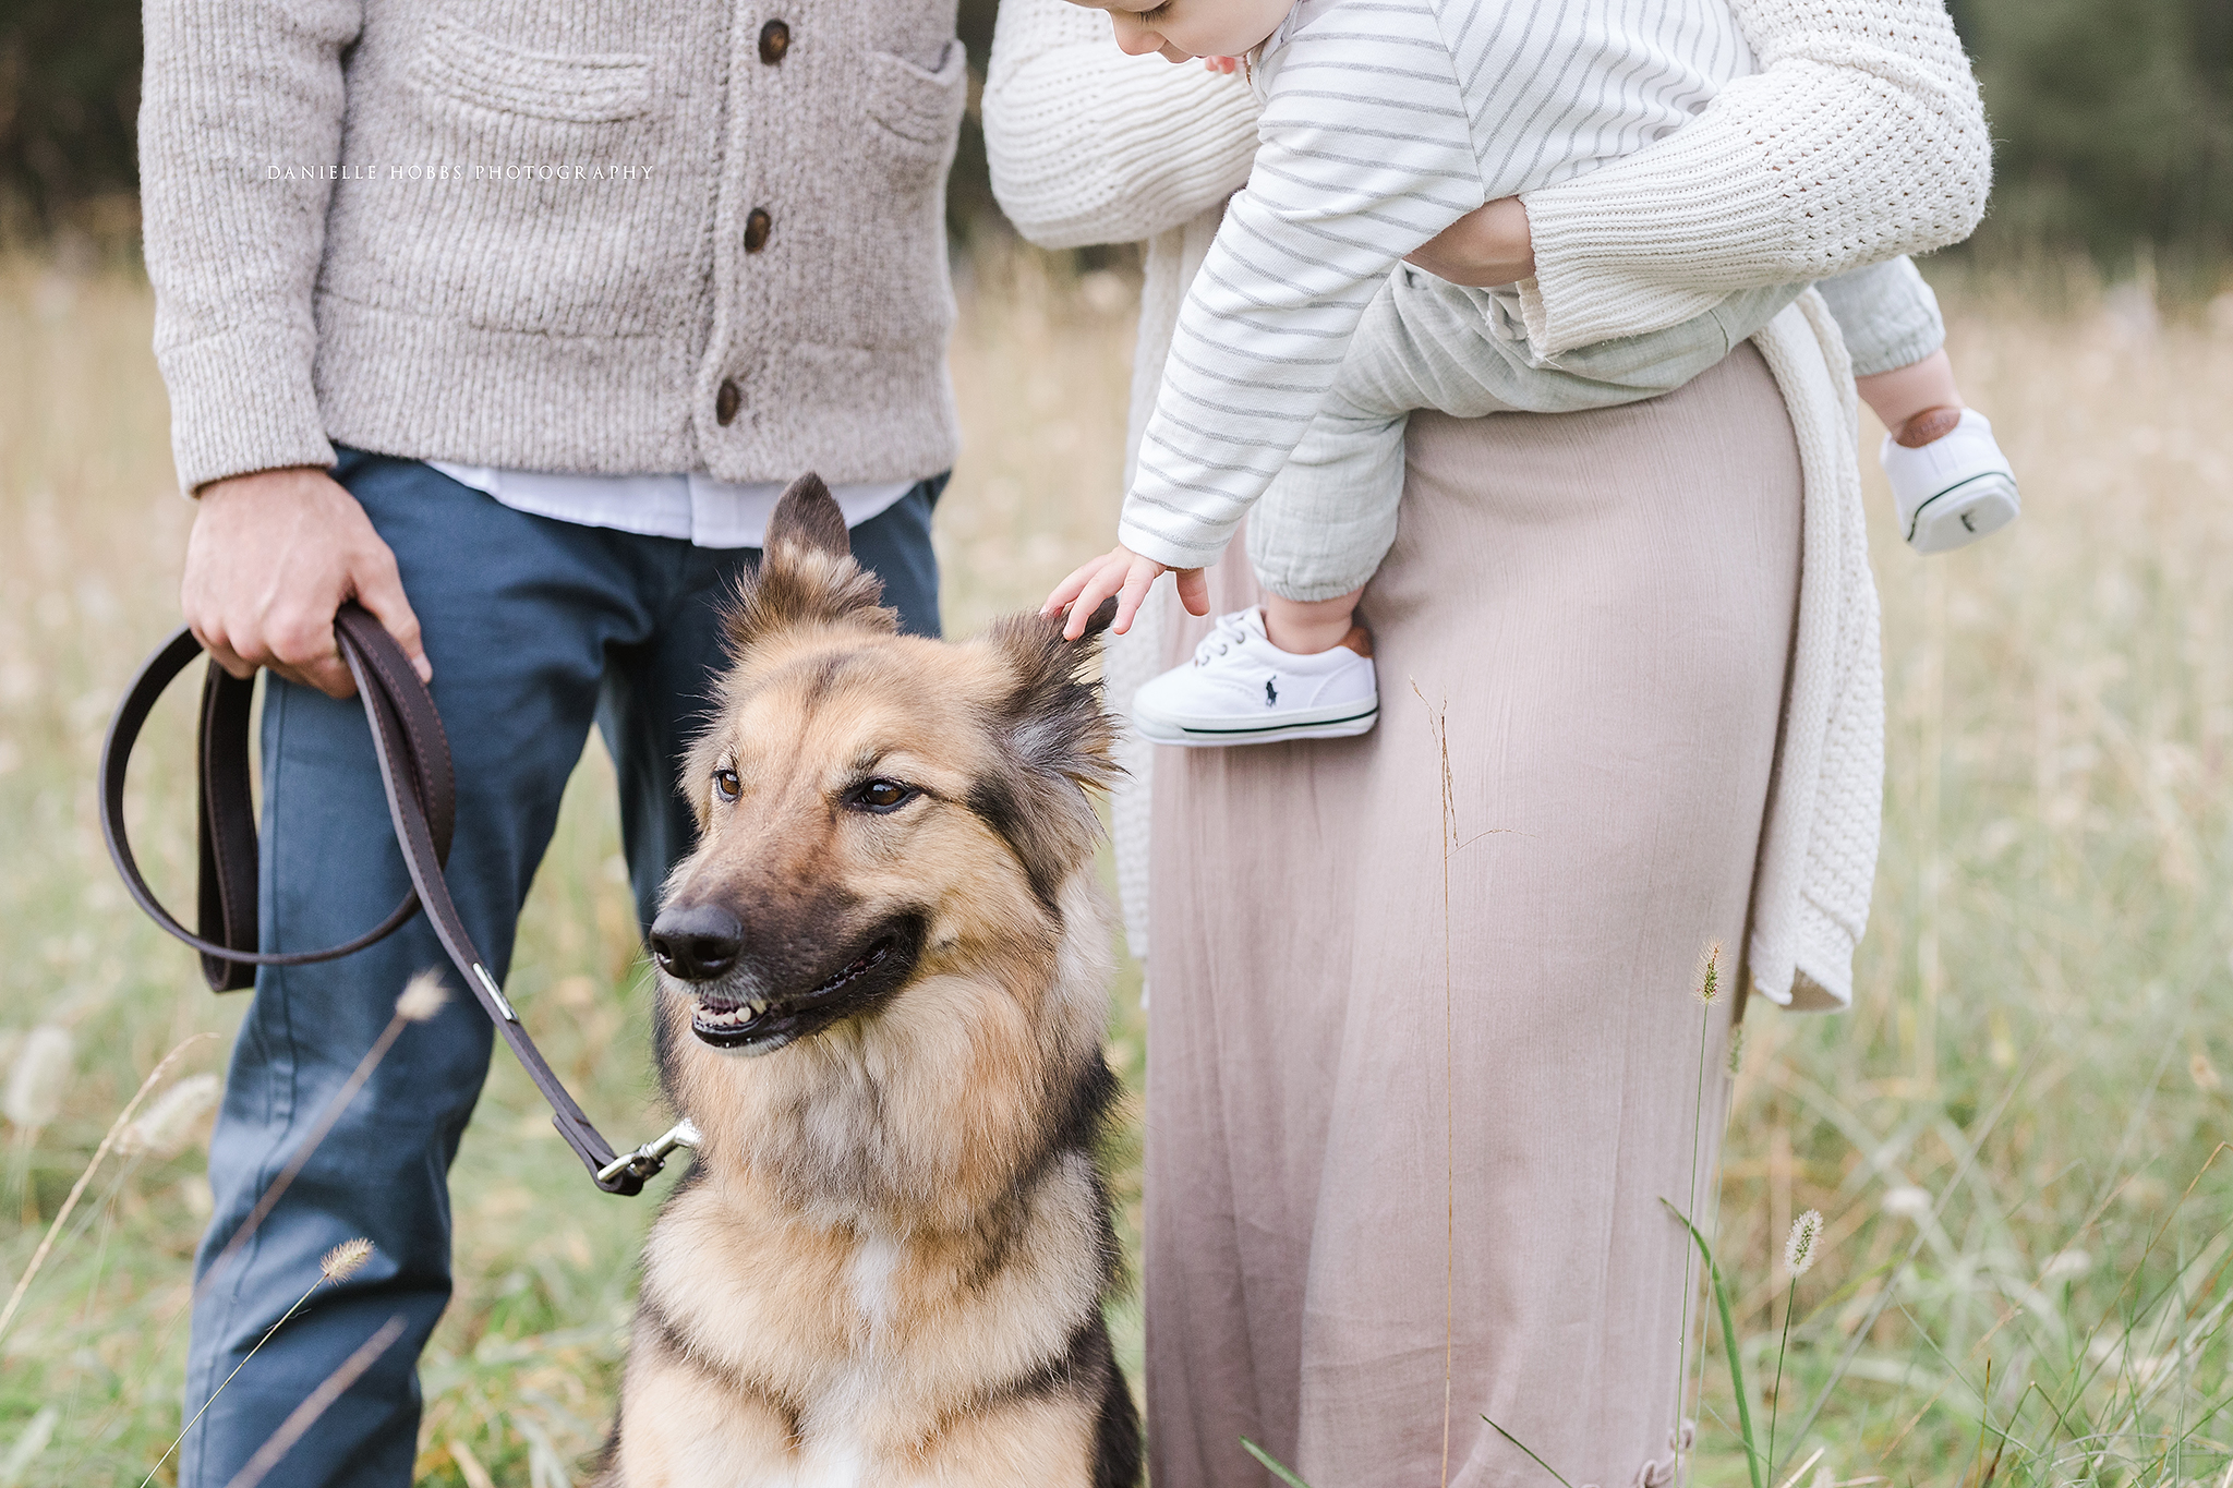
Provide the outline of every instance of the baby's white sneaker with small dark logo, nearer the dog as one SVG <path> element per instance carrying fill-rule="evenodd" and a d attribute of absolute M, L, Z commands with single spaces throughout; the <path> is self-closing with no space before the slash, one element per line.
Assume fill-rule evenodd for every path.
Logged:
<path fill-rule="evenodd" d="M 1349 738 L 1378 716 L 1371 656 L 1346 642 L 1315 656 L 1282 651 L 1264 636 L 1262 609 L 1219 618 L 1190 665 L 1132 696 L 1141 734 L 1192 747 Z"/>

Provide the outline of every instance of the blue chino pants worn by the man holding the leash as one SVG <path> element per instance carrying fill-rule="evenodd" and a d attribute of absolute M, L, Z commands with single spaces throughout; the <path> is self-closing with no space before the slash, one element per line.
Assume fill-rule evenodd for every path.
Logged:
<path fill-rule="evenodd" d="M 415 460 L 344 451 L 339 480 L 395 549 L 433 663 L 458 767 L 449 892 L 502 979 L 558 799 L 596 723 L 619 767 L 621 830 L 643 921 L 692 843 L 674 772 L 721 665 L 717 605 L 757 549 L 697 549 L 527 515 Z M 853 529 L 909 631 L 938 634 L 931 506 L 922 482 Z M 409 888 L 371 732 L 355 698 L 266 678 L 263 946 L 330 946 Z M 386 1026 L 404 982 L 449 970 L 424 915 L 377 946 L 317 966 L 266 966 L 232 1049 L 210 1138 L 214 1214 L 197 1281 L 295 1158 L 328 1098 Z M 456 975 L 447 975 L 456 982 Z M 284 1200 L 194 1305 L 185 1417 L 232 1374 L 353 1236 L 371 1263 L 295 1316 L 217 1394 L 181 1448 L 183 1488 L 221 1488 L 351 1352 L 402 1314 L 409 1332 L 288 1452 L 290 1488 L 404 1488 L 418 1450 L 418 1354 L 449 1301 L 449 1185 L 489 1071 L 493 1031 L 453 997 L 404 1028 Z M 583 1180 L 587 1182 L 587 1180 Z M 587 1191 L 587 1189 L 583 1189 Z M 578 1202 L 552 1194 L 549 1202 Z M 605 1202 L 605 1200 L 596 1200 Z M 619 1200 L 614 1200 L 619 1202 Z"/>

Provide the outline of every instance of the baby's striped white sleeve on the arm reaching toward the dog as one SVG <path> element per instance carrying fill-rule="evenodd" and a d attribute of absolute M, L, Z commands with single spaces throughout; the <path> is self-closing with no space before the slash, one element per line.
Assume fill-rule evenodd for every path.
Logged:
<path fill-rule="evenodd" d="M 1266 67 L 1248 187 L 1179 310 L 1119 540 L 1217 558 L 1317 413 L 1387 272 L 1483 203 L 1427 0 L 1335 2 Z"/>

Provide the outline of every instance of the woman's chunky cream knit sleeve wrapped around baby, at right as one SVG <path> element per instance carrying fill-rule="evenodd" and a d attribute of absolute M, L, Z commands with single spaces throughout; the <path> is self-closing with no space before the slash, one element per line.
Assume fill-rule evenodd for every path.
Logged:
<path fill-rule="evenodd" d="M 1523 201 L 1527 335 L 1552 357 L 1726 290 L 1970 236 L 1992 141 L 1943 0 L 1733 0 L 1760 71 L 1675 134 Z"/>

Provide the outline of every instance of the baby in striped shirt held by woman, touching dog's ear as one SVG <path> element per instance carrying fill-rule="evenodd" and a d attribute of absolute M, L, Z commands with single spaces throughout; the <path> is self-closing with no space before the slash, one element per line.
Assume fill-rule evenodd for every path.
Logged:
<path fill-rule="evenodd" d="M 1748 71 L 1726 0 L 1666 0 L 1650 25 L 1630 13 L 1619 0 L 1112 9 L 1130 54 L 1213 69 L 1248 56 L 1264 105 L 1248 187 L 1179 317 L 1119 547 L 1047 600 L 1050 613 L 1070 607 L 1076 634 L 1114 593 L 1123 631 L 1154 578 L 1177 571 L 1179 598 L 1208 613 L 1201 569 L 1255 506 L 1248 553 L 1264 607 L 1226 616 L 1192 665 L 1139 689 L 1148 738 L 1239 745 L 1373 727 L 1355 605 L 1396 538 L 1409 410 L 1574 413 L 1657 397 L 1804 292 L 1735 292 L 1668 330 L 1545 359 L 1516 286 L 1472 290 L 1402 263 L 1485 201 L 1677 129 Z M 1527 25 L 1507 27 L 1514 16 Z M 1860 395 L 1891 431 L 1882 462 L 1907 542 L 1945 551 L 2014 520 L 2014 475 L 1992 426 L 1961 402 L 1914 265 L 1894 259 L 1820 290 Z"/>

